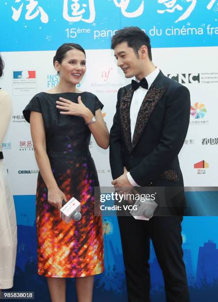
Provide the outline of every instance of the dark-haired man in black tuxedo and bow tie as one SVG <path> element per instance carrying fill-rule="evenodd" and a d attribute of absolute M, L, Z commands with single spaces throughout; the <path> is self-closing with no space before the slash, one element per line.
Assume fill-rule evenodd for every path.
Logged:
<path fill-rule="evenodd" d="M 138 27 L 117 31 L 111 48 L 125 77 L 136 78 L 117 94 L 110 130 L 114 188 L 183 187 L 178 154 L 189 124 L 188 89 L 154 66 L 150 39 Z M 149 221 L 118 217 L 129 302 L 150 301 L 150 239 L 163 272 L 167 302 L 189 301 L 181 222 L 182 216 L 155 216 Z"/>

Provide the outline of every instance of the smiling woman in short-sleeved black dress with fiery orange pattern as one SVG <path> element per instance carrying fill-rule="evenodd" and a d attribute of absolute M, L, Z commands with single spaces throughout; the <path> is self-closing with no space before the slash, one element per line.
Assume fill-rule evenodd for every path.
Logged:
<path fill-rule="evenodd" d="M 30 121 L 39 167 L 36 192 L 38 274 L 46 276 L 52 302 L 65 301 L 65 278 L 75 277 L 79 302 L 92 301 L 94 275 L 103 272 L 101 217 L 94 216 L 94 187 L 99 186 L 88 146 L 91 133 L 107 149 L 109 132 L 102 103 L 76 88 L 86 72 L 84 49 L 60 46 L 53 59 L 60 81 L 37 94 L 24 110 Z M 60 219 L 62 200 L 81 203 L 80 221 Z"/>

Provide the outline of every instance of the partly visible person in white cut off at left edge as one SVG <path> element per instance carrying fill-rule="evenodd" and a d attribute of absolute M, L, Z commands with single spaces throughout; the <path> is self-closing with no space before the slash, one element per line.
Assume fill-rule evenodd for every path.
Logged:
<path fill-rule="evenodd" d="M 3 67 L 3 61 L 0 56 L 0 77 L 3 73 Z M 5 90 L 0 89 L 0 291 L 13 286 L 17 250 L 17 224 L 14 201 L 9 188 L 1 151 L 1 144 L 7 131 L 11 112 L 11 99 Z"/>

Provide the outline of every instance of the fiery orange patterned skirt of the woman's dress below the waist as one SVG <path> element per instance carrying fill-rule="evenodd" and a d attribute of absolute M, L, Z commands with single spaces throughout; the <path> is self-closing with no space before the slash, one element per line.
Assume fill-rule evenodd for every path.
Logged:
<path fill-rule="evenodd" d="M 38 274 L 46 277 L 84 277 L 104 271 L 102 217 L 94 216 L 94 187 L 99 186 L 90 153 L 48 153 L 56 182 L 67 199 L 81 203 L 82 218 L 69 224 L 47 202 L 47 188 L 39 173 L 36 191 Z"/>

